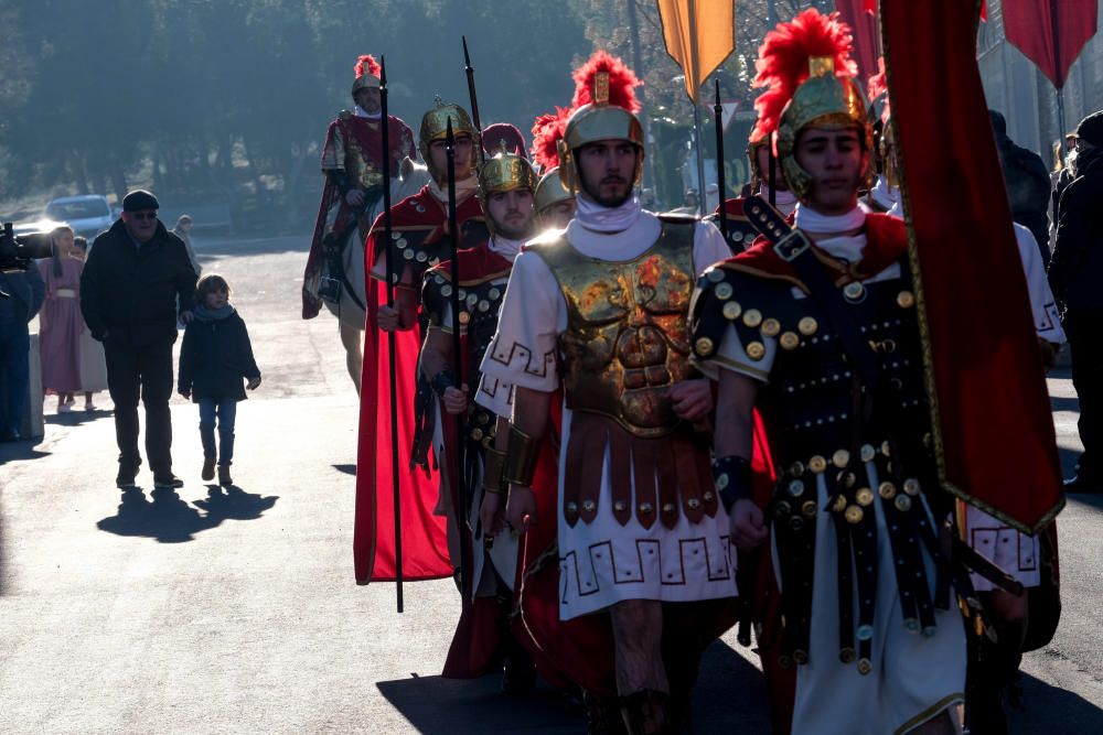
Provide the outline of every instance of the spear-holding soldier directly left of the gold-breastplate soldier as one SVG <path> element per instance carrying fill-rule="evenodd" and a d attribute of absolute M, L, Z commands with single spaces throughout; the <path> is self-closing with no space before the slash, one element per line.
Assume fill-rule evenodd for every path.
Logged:
<path fill-rule="evenodd" d="M 513 260 L 533 233 L 533 191 L 536 173 L 525 158 L 507 151 L 507 143 L 488 159 L 478 174 L 478 196 L 491 236 L 485 246 L 457 253 L 459 282 L 452 281 L 452 262 L 429 269 L 422 287 L 422 309 L 428 329 L 421 349 L 421 372 L 436 396 L 436 453 L 447 468 L 449 536 L 469 534 L 471 558 L 461 566 L 470 573 L 462 580 L 463 610 L 445 666 L 446 677 L 480 677 L 505 662 L 504 689 L 518 692 L 535 683 L 535 671 L 525 649 L 510 630 L 513 587 L 517 572 L 517 539 L 501 522 L 480 522 L 484 493 L 501 493 L 504 452 L 495 448 L 500 425 L 507 424 L 513 391 L 507 383 L 480 383 L 480 364 L 497 327 L 499 309 L 505 294 Z M 453 289 L 458 293 L 453 294 Z M 460 312 L 453 320 L 452 296 Z M 460 357 L 453 355 L 452 332 L 460 328 Z M 459 363 L 460 372 L 454 366 Z M 469 389 L 478 387 L 478 391 Z M 458 436 L 456 417 L 463 418 Z M 505 435 L 502 437 L 505 439 Z M 463 466 L 457 457 L 463 443 Z M 499 442 L 501 444 L 501 442 Z M 461 498 L 459 477 L 472 494 Z M 462 500 L 469 505 L 463 507 Z"/>

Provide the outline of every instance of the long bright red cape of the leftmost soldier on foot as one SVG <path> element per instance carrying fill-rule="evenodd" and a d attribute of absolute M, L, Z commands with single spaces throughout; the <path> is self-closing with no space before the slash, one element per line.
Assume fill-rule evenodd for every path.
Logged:
<path fill-rule="evenodd" d="M 457 207 L 462 227 L 482 217 L 482 207 L 469 196 Z M 431 242 L 446 235 L 445 207 L 428 186 L 392 207 L 392 229 L 424 237 Z M 371 273 L 377 253 L 383 253 L 383 215 L 372 226 L 365 247 L 365 272 Z M 420 284 L 418 284 L 420 285 Z M 395 375 L 398 406 L 398 436 L 390 435 L 390 383 L 387 337 L 378 328 L 378 307 L 386 304 L 386 290 L 375 278 L 367 279 L 367 328 L 364 335 L 364 372 L 360 400 L 360 442 L 356 458 L 356 517 L 353 559 L 356 582 L 387 582 L 395 579 L 394 473 L 399 477 L 401 502 L 403 579 L 435 580 L 452 575 L 448 556 L 445 518 L 433 515 L 439 496 L 436 473 L 426 475 L 410 468 L 414 436 L 414 393 L 421 332 L 416 326 L 397 332 Z M 398 466 L 392 466 L 392 444 L 398 446 Z"/>

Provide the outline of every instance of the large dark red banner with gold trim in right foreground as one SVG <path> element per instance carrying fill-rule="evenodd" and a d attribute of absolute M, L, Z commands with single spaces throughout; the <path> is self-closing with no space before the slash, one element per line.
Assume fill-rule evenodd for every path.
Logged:
<path fill-rule="evenodd" d="M 1026 277 L 976 65 L 976 0 L 882 2 L 943 486 L 1022 530 L 1064 504 Z"/>

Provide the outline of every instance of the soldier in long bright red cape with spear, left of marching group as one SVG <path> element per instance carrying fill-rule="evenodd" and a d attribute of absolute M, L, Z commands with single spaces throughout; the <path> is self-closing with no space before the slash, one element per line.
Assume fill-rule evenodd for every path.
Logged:
<path fill-rule="evenodd" d="M 458 539 L 449 538 L 443 514 L 449 505 L 440 493 L 438 474 L 430 468 L 428 450 L 433 432 L 432 389 L 419 378 L 418 357 L 429 314 L 420 295 L 425 272 L 450 258 L 453 249 L 448 231 L 447 153 L 445 138 L 451 120 L 456 139 L 454 187 L 459 247 L 482 246 L 488 238 L 482 207 L 474 196 L 474 155 L 479 131 L 467 110 L 437 98 L 425 114 L 418 132 L 418 150 L 429 167 L 431 181 L 390 209 L 392 239 L 384 242 L 381 215 L 372 226 L 365 248 L 367 281 L 367 331 L 364 343 L 364 382 L 361 393 L 360 455 L 356 473 L 356 527 L 354 555 L 356 579 L 393 580 L 395 575 L 394 501 L 390 474 L 401 476 L 403 555 L 408 580 L 449 576 L 460 565 Z M 387 249 L 394 271 L 394 306 L 386 303 Z M 387 341 L 396 343 L 398 436 L 390 436 L 384 420 L 390 404 Z M 399 446 L 399 464 L 390 466 L 390 443 Z M 420 465 L 422 472 L 410 467 Z M 449 552 L 449 549 L 452 552 Z"/>

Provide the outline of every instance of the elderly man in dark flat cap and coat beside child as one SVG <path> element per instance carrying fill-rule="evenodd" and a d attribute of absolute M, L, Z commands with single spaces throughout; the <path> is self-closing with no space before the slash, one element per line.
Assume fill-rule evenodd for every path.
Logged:
<path fill-rule="evenodd" d="M 195 271 L 183 241 L 157 218 L 157 197 L 135 191 L 122 216 L 96 238 L 81 275 L 81 311 L 92 336 L 104 343 L 107 386 L 115 401 L 119 444 L 118 487 L 133 487 L 138 453 L 138 397 L 146 406 L 146 454 L 153 487 L 183 483 L 172 474 L 172 344 L 176 318 L 192 318 Z M 140 393 L 139 393 L 140 391 Z"/>

